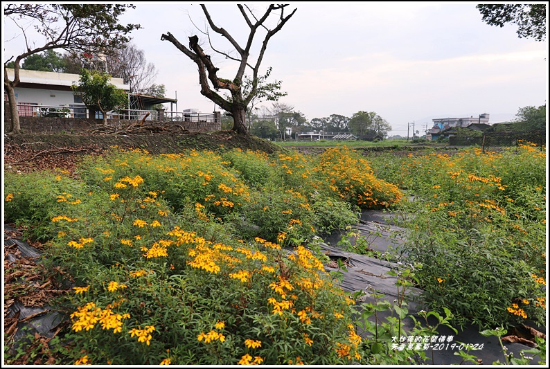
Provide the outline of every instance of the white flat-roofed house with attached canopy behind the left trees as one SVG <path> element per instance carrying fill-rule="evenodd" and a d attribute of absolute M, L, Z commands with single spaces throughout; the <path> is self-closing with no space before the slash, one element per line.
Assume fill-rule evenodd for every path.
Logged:
<path fill-rule="evenodd" d="M 8 78 L 12 80 L 14 70 L 7 69 L 7 72 Z M 37 117 L 59 114 L 59 116 L 66 118 L 87 118 L 86 105 L 82 103 L 80 96 L 75 96 L 71 90 L 71 85 L 78 83 L 79 78 L 80 75 L 78 74 L 20 69 L 19 79 L 21 82 L 14 89 L 19 116 Z M 111 78 L 110 82 L 127 92 L 131 109 L 127 111 L 127 114 L 130 114 L 133 118 L 145 115 L 143 111 L 150 110 L 154 105 L 177 102 L 177 100 L 171 98 L 155 98 L 130 93 L 130 85 L 125 84 L 122 78 Z M 5 91 L 4 101 L 8 101 Z M 96 113 L 95 118 L 100 118 L 100 116 L 97 116 L 98 114 L 100 113 Z M 151 119 L 152 116 L 148 118 Z"/>

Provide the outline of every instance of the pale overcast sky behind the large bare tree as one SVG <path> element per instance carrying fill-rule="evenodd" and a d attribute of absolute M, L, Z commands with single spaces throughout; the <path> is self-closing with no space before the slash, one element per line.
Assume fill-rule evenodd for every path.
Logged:
<path fill-rule="evenodd" d="M 236 3 L 206 4 L 215 24 L 244 45 L 247 26 Z M 258 14 L 267 5 L 250 3 Z M 170 42 L 161 41 L 161 35 L 170 32 L 187 45 L 190 35 L 198 35 L 206 49 L 206 37 L 193 25 L 204 30 L 199 4 L 137 2 L 135 6 L 121 20 L 143 27 L 132 33 L 133 42 L 159 71 L 155 82 L 166 86 L 167 97 L 177 97 L 179 111 L 213 111 L 213 102 L 199 92 L 196 64 Z M 308 120 L 375 111 L 393 127 L 390 135 L 406 136 L 407 123 L 413 121 L 422 130 L 425 125 L 432 127 L 432 118 L 488 113 L 490 123 L 497 123 L 515 118 L 520 107 L 544 105 L 547 41 L 520 39 L 513 24 L 489 26 L 475 6 L 472 2 L 290 3 L 285 14 L 297 10 L 270 39 L 261 72 L 273 68 L 271 80 L 281 80 L 287 92 L 280 102 Z M 258 33 L 258 41 L 263 35 Z M 6 43 L 6 50 L 12 43 L 16 46 Z M 222 51 L 231 50 L 220 38 L 213 38 L 213 43 Z M 211 56 L 220 68 L 218 76 L 232 80 L 233 64 L 215 53 Z"/>

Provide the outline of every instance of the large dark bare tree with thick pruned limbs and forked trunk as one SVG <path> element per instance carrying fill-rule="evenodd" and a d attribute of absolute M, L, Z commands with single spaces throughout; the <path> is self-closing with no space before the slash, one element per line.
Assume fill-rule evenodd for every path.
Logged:
<path fill-rule="evenodd" d="M 267 48 L 267 43 L 273 35 L 275 35 L 279 30 L 281 30 L 281 28 L 283 28 L 288 19 L 290 19 L 290 17 L 294 15 L 296 9 L 294 9 L 290 13 L 290 15 L 287 15 L 285 17 L 284 12 L 287 4 L 270 4 L 262 17 L 258 18 L 256 17 L 256 15 L 254 15 L 254 12 L 252 12 L 248 6 L 242 6 L 241 4 L 238 4 L 237 6 L 240 10 L 240 14 L 245 19 L 250 29 L 249 35 L 247 37 L 247 42 L 244 47 L 241 46 L 236 41 L 236 39 L 234 39 L 233 36 L 231 36 L 227 32 L 227 30 L 216 26 L 212 21 L 212 18 L 210 16 L 210 13 L 206 9 L 206 6 L 201 5 L 202 11 L 206 16 L 206 20 L 208 21 L 210 28 L 215 33 L 218 33 L 219 35 L 225 37 L 231 43 L 233 48 L 235 48 L 238 54 L 238 57 L 233 57 L 232 55 L 229 55 L 229 53 L 217 51 L 215 48 L 213 48 L 213 51 L 215 51 L 216 53 L 219 53 L 224 57 L 227 57 L 228 59 L 234 60 L 239 63 L 237 73 L 232 80 L 218 77 L 217 73 L 219 71 L 219 68 L 214 66 L 213 62 L 211 61 L 210 55 L 206 55 L 206 53 L 204 53 L 203 48 L 199 45 L 199 37 L 197 35 L 189 37 L 189 48 L 181 44 L 176 39 L 176 37 L 174 37 L 174 35 L 169 32 L 163 34 L 161 40 L 168 40 L 174 46 L 176 46 L 179 51 L 184 53 L 187 57 L 190 58 L 190 60 L 193 60 L 193 62 L 197 64 L 199 69 L 199 83 L 201 86 L 201 94 L 206 98 L 209 98 L 210 100 L 215 102 L 216 105 L 231 114 L 231 116 L 233 117 L 232 130 L 234 132 L 237 132 L 239 134 L 248 134 L 246 126 L 247 107 L 254 96 L 256 96 L 256 93 L 258 93 L 258 71 L 260 69 L 260 64 L 263 60 L 263 56 Z M 280 13 L 276 26 L 273 29 L 269 29 L 265 25 L 265 22 L 267 21 L 269 15 L 277 10 L 280 11 Z M 250 51 L 253 46 L 254 37 L 256 36 L 258 28 L 265 29 L 266 34 L 263 42 L 261 43 L 256 62 L 254 63 L 254 60 L 251 60 Z M 206 35 L 209 34 L 206 33 Z M 247 68 L 251 69 L 250 75 L 252 84 L 251 89 L 249 89 L 248 93 L 243 93 L 242 84 Z M 220 94 L 218 93 L 220 89 L 228 90 L 231 94 L 231 99 L 225 99 L 224 97 L 220 96 Z"/>

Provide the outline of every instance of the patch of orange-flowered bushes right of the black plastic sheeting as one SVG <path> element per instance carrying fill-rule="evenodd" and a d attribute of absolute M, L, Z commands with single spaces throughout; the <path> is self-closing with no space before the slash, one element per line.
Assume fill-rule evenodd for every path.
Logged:
<path fill-rule="evenodd" d="M 544 147 L 468 149 L 371 158 L 378 177 L 414 195 L 402 201 L 405 260 L 423 300 L 448 307 L 454 325 L 508 327 L 546 321 L 547 197 Z"/>

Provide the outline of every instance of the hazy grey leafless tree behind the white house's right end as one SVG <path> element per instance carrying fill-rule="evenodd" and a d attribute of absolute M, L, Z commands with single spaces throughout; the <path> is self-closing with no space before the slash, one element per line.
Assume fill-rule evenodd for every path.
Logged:
<path fill-rule="evenodd" d="M 130 92 L 133 93 L 143 93 L 159 74 L 154 64 L 147 62 L 143 50 L 134 44 L 127 44 L 113 55 L 108 55 L 107 66 L 109 74 L 123 78 L 125 83 L 130 84 Z"/>

